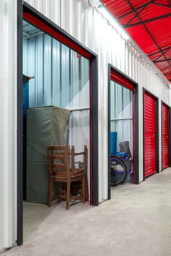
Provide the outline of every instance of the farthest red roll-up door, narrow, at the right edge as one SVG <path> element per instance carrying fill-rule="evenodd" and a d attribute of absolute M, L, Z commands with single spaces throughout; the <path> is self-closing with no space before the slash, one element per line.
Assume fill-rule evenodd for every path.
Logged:
<path fill-rule="evenodd" d="M 169 124 L 170 112 L 167 105 L 162 103 L 162 169 L 169 167 Z"/>

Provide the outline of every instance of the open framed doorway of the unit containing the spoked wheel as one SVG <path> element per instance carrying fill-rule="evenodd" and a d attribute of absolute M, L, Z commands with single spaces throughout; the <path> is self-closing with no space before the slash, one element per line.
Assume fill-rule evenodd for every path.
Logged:
<path fill-rule="evenodd" d="M 108 83 L 108 157 L 109 185 L 118 183 L 117 177 L 111 175 L 112 168 L 121 176 L 123 161 L 127 172 L 123 183 L 139 183 L 138 166 L 138 97 L 137 83 L 126 77 L 118 69 L 109 65 Z M 115 158 L 111 156 L 116 156 Z M 113 180 L 112 180 L 113 179 Z"/>

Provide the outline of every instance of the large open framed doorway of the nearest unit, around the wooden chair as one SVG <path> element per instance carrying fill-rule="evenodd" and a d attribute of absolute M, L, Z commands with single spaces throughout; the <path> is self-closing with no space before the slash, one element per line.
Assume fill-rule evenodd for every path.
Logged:
<path fill-rule="evenodd" d="M 74 145 L 75 151 L 83 151 L 83 146 L 88 146 L 88 200 L 91 205 L 99 204 L 96 55 L 26 3 L 22 22 L 19 34 L 23 42 L 23 83 L 19 84 L 18 91 L 23 95 L 23 104 L 18 104 L 18 113 L 22 113 L 18 127 L 23 128 L 18 134 L 18 152 L 23 148 L 23 157 L 21 154 L 20 162 L 18 155 L 18 245 L 23 244 L 23 237 L 27 238 L 41 218 L 51 211 L 47 208 L 45 165 L 46 146 L 56 143 L 54 136 L 62 134 L 64 141 L 60 143 Z M 20 54 L 18 63 L 22 63 Z M 52 136 L 45 124 L 52 123 L 49 113 L 57 110 L 63 121 L 58 121 Z M 40 161 L 40 151 L 46 163 Z M 37 222 L 34 227 L 30 225 L 32 217 Z M 30 222 L 28 225 L 24 223 L 26 219 Z M 23 234 L 23 224 L 31 227 L 26 234 Z"/>

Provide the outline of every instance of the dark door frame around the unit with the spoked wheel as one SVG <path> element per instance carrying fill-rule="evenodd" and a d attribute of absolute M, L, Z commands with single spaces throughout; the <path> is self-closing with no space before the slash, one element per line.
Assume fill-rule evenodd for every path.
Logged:
<path fill-rule="evenodd" d="M 113 74 L 113 76 L 112 76 Z M 111 198 L 111 177 L 110 177 L 110 82 L 118 82 L 121 86 L 130 89 L 133 93 L 133 165 L 134 184 L 139 184 L 139 116 L 138 116 L 138 84 L 111 64 L 108 65 L 108 199 Z"/>

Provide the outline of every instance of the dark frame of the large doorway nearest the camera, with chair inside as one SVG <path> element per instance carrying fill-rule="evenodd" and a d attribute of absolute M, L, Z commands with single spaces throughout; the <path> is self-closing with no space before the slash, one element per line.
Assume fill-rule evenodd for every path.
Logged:
<path fill-rule="evenodd" d="M 23 12 L 25 19 L 38 26 L 39 29 L 58 39 L 72 50 L 77 51 L 90 61 L 90 203 L 93 206 L 99 205 L 99 170 L 98 170 L 98 56 L 86 48 L 74 37 L 46 18 L 42 13 L 35 10 L 26 2 L 18 0 L 18 196 L 17 196 L 17 244 L 23 244 Z"/>

